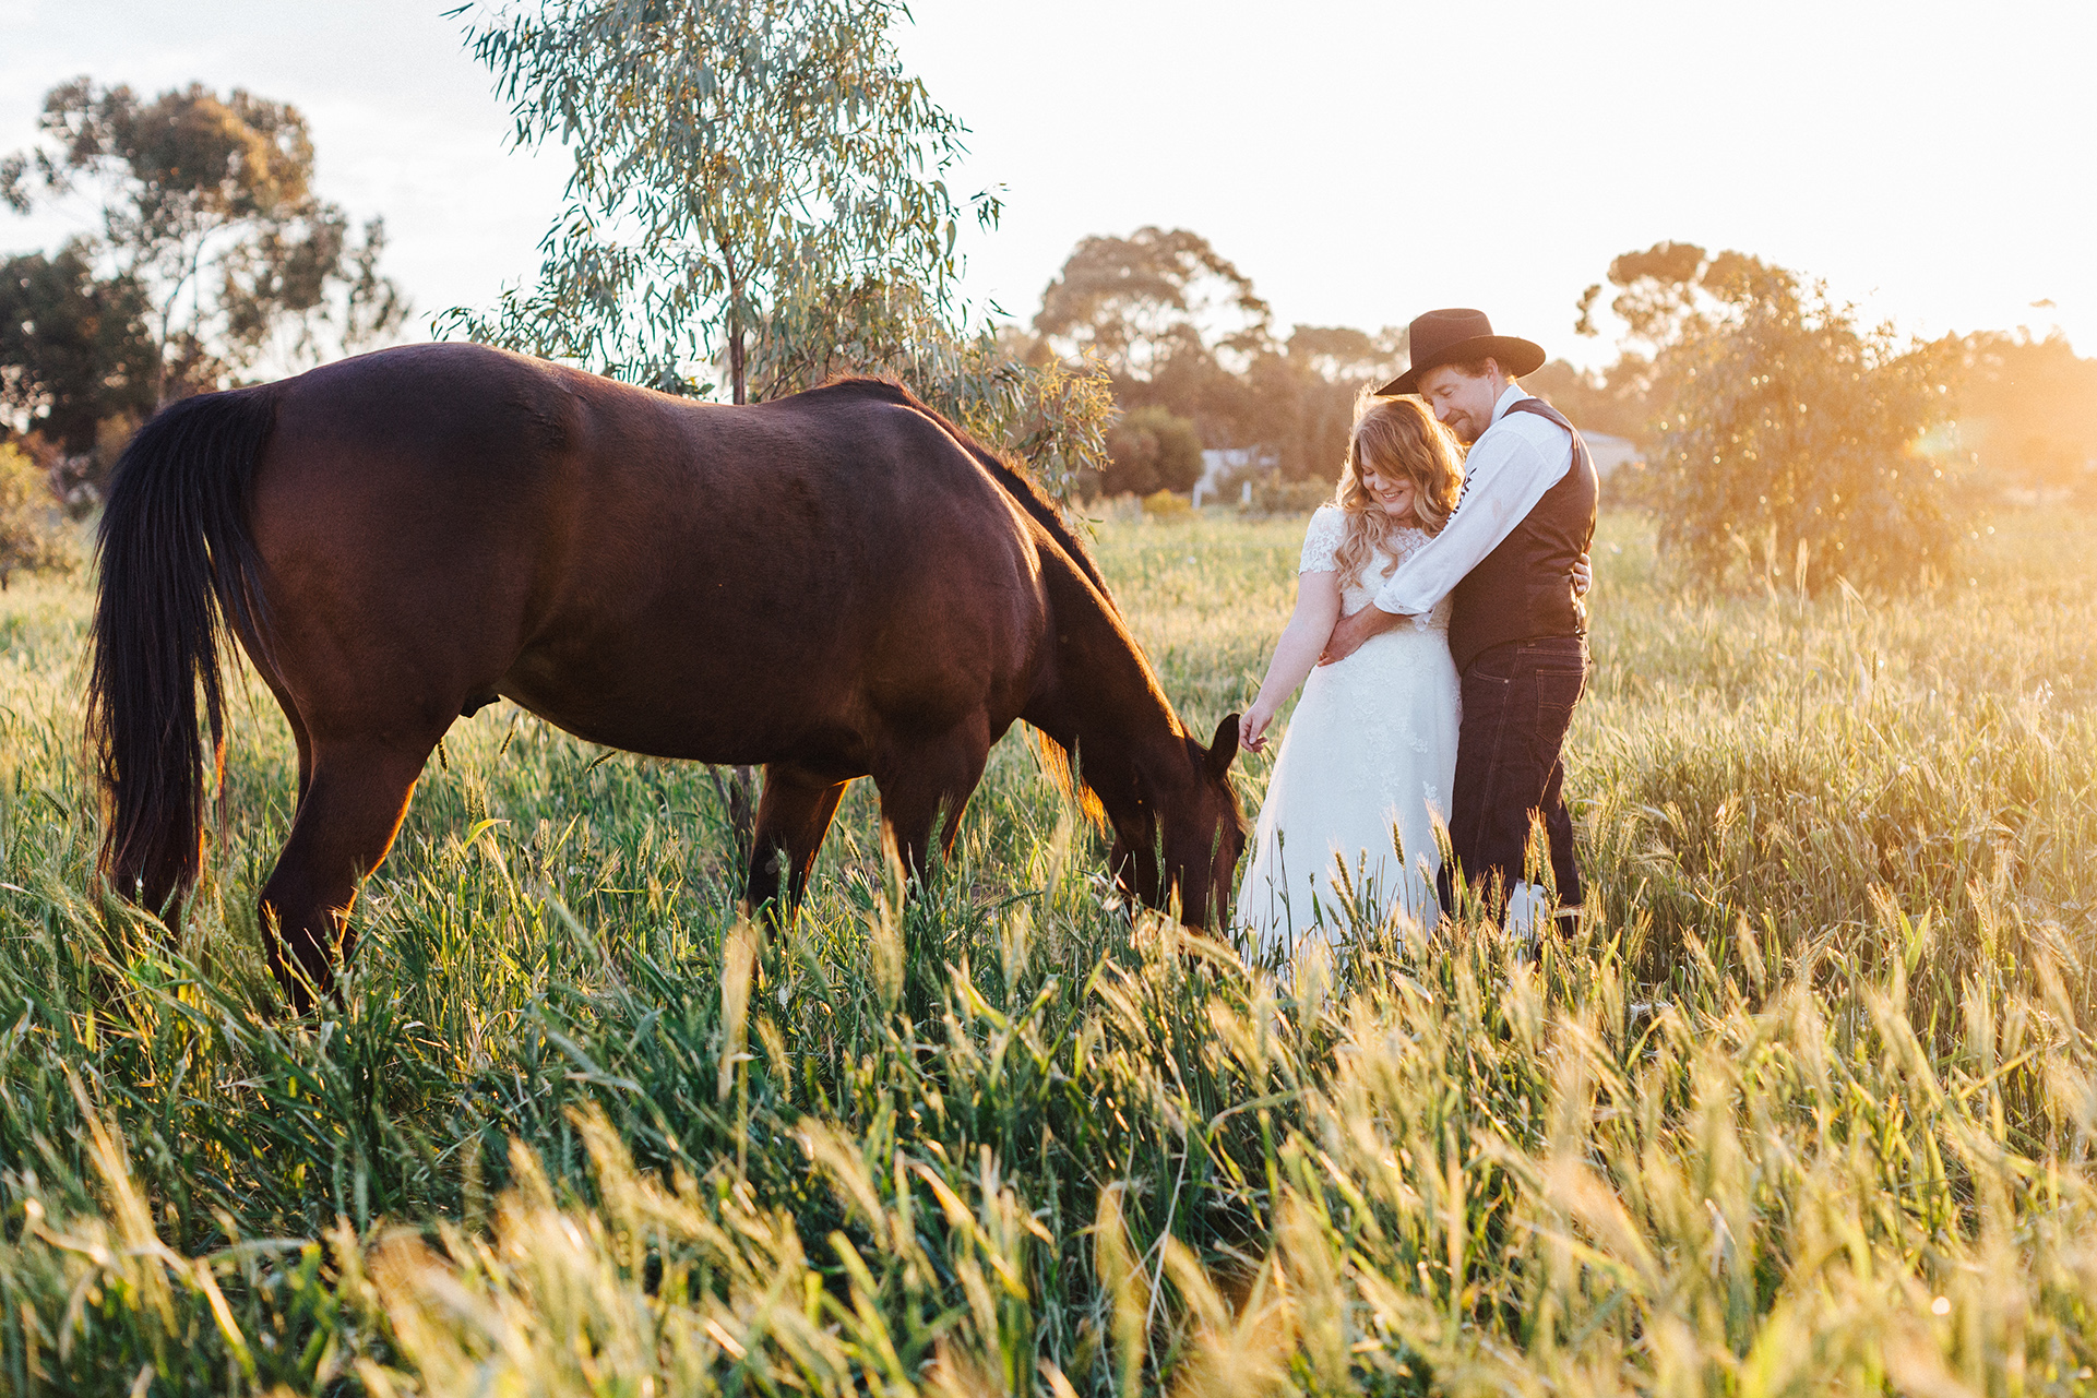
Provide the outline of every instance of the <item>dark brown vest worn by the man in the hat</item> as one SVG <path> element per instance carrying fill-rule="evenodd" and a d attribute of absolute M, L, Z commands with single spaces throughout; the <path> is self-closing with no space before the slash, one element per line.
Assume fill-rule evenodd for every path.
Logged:
<path fill-rule="evenodd" d="M 1564 428 L 1573 438 L 1573 465 L 1514 532 L 1455 585 L 1449 654 L 1457 673 L 1493 646 L 1587 635 L 1587 608 L 1573 593 L 1573 564 L 1594 543 L 1598 488 L 1587 442 L 1541 398 L 1518 398 L 1508 411 L 1535 413 Z"/>

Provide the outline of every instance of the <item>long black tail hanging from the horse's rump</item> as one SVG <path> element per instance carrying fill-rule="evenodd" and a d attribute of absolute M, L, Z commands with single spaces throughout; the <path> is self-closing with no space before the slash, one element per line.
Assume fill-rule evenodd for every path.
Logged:
<path fill-rule="evenodd" d="M 88 750 L 103 784 L 101 872 L 166 912 L 197 880 L 203 719 L 224 763 L 218 679 L 229 629 L 262 635 L 260 562 L 247 526 L 277 394 L 243 388 L 161 409 L 117 461 L 96 555 Z"/>

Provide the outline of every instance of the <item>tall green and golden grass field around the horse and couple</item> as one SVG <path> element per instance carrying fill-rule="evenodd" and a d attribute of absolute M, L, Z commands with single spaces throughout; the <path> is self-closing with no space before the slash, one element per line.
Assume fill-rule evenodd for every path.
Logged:
<path fill-rule="evenodd" d="M 900 905 L 738 926 L 702 771 L 497 706 L 273 1019 L 291 744 L 180 945 L 103 905 L 78 583 L 0 593 L 0 1392 L 2097 1394 L 2097 570 L 1678 595 L 1604 522 L 1594 924 L 1290 981 L 1107 908 L 1009 738 Z M 1206 731 L 1300 522 L 1109 520 Z M 1248 807 L 1269 759 L 1244 771 Z"/>

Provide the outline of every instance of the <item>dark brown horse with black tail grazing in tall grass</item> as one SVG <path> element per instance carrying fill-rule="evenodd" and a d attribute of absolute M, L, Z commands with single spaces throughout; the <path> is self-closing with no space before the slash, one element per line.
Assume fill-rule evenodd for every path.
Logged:
<path fill-rule="evenodd" d="M 860 776 L 921 872 L 1015 719 L 1076 755 L 1145 903 L 1206 924 L 1244 849 L 1237 717 L 1193 738 L 1055 507 L 895 384 L 719 407 L 413 346 L 161 411 L 103 514 L 88 736 L 103 872 L 170 918 L 226 629 L 298 740 L 260 910 L 296 1006 L 333 983 L 430 748 L 497 696 L 761 763 L 753 905 L 782 874 L 801 897 Z"/>

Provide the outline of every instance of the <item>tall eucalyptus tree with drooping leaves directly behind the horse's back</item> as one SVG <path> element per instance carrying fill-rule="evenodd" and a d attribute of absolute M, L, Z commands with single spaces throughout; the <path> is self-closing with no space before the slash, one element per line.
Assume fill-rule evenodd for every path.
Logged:
<path fill-rule="evenodd" d="M 889 371 L 1059 495 L 1097 465 L 1103 375 L 967 329 L 963 124 L 904 71 L 898 0 L 545 0 L 470 21 L 524 147 L 572 170 L 539 275 L 440 329 L 673 394 L 770 398 Z M 740 840 L 755 778 L 723 788 Z"/>

